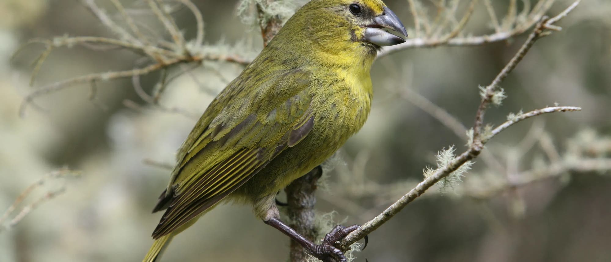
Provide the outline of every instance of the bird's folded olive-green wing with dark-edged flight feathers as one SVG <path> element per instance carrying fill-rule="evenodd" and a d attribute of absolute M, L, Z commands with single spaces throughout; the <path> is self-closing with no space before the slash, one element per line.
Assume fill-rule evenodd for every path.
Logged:
<path fill-rule="evenodd" d="M 246 92 L 244 84 L 256 88 Z M 299 143 L 314 125 L 310 84 L 310 74 L 302 70 L 279 72 L 267 81 L 233 81 L 227 89 L 234 90 L 219 95 L 202 116 L 206 123 L 194 128 L 183 144 L 170 193 L 156 207 L 167 211 L 153 238 L 218 203 Z"/>

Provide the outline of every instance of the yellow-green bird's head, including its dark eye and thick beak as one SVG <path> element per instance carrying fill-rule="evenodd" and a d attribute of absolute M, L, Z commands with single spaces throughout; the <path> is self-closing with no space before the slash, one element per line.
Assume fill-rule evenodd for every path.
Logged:
<path fill-rule="evenodd" d="M 373 61 L 379 48 L 403 43 L 407 36 L 397 15 L 381 0 L 312 0 L 287 21 L 270 45 L 339 62 Z"/>

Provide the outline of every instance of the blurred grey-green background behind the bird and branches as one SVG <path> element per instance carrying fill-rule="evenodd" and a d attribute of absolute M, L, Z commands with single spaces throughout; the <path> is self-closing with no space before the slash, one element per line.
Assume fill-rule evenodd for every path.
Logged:
<path fill-rule="evenodd" d="M 110 1 L 97 2 L 120 20 Z M 247 58 L 262 48 L 248 10 L 238 17 L 244 4 L 193 2 L 210 47 Z M 284 3 L 280 11 L 290 13 L 303 2 Z M 407 1 L 385 2 L 413 28 Z M 434 10 L 438 2 L 445 1 L 420 6 Z M 461 10 L 467 5 L 450 2 L 459 2 Z M 511 1 L 492 2 L 502 18 Z M 518 1 L 518 10 L 525 2 Z M 150 34 L 164 34 L 145 1 L 123 4 Z M 547 13 L 569 4 L 555 1 Z M 192 39 L 192 14 L 172 2 L 168 7 Z M 431 189 L 409 204 L 369 236 L 355 261 L 611 261 L 611 176 L 609 165 L 596 162 L 611 157 L 610 14 L 607 0 L 583 1 L 559 23 L 563 31 L 537 42 L 502 84 L 508 98 L 486 120 L 500 124 L 510 112 L 555 103 L 582 111 L 529 119 L 495 137 L 463 182 Z M 485 6 L 477 4 L 468 32 L 485 34 L 492 27 Z M 174 79 L 160 103 L 181 111 L 147 105 L 130 79 L 120 79 L 98 83 L 93 100 L 89 84 L 43 95 L 35 101 L 46 110 L 28 107 L 20 118 L 24 96 L 40 86 L 142 65 L 140 56 L 126 50 L 57 48 L 30 87 L 32 61 L 45 46 L 29 45 L 11 60 L 12 54 L 29 39 L 56 36 L 113 35 L 78 1 L 0 2 L 0 215 L 45 174 L 64 167 L 81 172 L 78 178 L 46 179 L 27 196 L 15 214 L 65 189 L 0 231 L 0 261 L 141 261 L 161 216 L 150 211 L 169 179 L 170 171 L 160 166 L 173 165 L 196 119 L 243 67 L 205 62 Z M 466 149 L 466 136 L 426 113 L 422 99 L 414 97 L 422 95 L 469 127 L 480 100 L 478 85 L 490 83 L 524 40 L 525 34 L 474 47 L 415 48 L 378 59 L 368 122 L 338 153 L 318 190 L 317 211 L 335 211 L 337 222 L 364 223 L 421 181 L 423 168 L 436 167 L 437 151 Z M 159 77 L 142 77 L 145 91 Z M 288 238 L 255 219 L 250 207 L 225 205 L 175 238 L 161 261 L 287 257 Z"/>

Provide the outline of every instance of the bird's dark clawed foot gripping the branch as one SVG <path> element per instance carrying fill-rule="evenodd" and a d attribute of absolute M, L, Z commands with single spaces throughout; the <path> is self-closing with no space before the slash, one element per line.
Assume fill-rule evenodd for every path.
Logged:
<path fill-rule="evenodd" d="M 342 225 L 335 226 L 331 232 L 324 236 L 322 244 L 315 245 L 312 250 L 309 250 L 310 254 L 324 262 L 347 261 L 342 250 L 335 246 L 339 245 L 343 238 L 359 227 L 359 225 L 351 225 L 348 227 Z"/>

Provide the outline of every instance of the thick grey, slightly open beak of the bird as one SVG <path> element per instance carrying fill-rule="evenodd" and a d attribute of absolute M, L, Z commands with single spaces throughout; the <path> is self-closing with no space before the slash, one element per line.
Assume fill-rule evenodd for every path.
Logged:
<path fill-rule="evenodd" d="M 373 24 L 365 27 L 367 28 L 365 28 L 364 40 L 380 47 L 403 43 L 405 40 L 401 36 L 408 37 L 408 31 L 405 30 L 403 23 L 388 7 L 384 7 L 384 13 L 376 17 Z M 401 36 L 387 32 L 388 30 L 397 32 Z"/>

